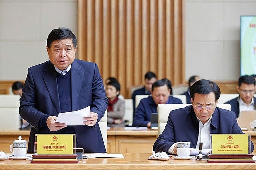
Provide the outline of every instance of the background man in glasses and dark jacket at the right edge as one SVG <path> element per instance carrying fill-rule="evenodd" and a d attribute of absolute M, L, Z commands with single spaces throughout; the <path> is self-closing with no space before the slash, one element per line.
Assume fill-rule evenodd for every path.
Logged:
<path fill-rule="evenodd" d="M 240 111 L 255 110 L 256 98 L 253 96 L 255 92 L 254 76 L 240 76 L 236 89 L 239 93 L 238 98 L 226 102 L 231 105 L 231 111 L 236 113 L 236 117 L 239 117 Z"/>

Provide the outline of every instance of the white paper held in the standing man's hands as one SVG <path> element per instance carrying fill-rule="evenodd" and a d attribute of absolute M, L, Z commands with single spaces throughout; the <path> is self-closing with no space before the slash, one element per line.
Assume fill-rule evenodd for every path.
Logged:
<path fill-rule="evenodd" d="M 59 113 L 56 122 L 66 123 L 68 126 L 85 125 L 83 121 L 87 121 L 84 117 L 90 114 L 90 106 L 80 110 Z"/>

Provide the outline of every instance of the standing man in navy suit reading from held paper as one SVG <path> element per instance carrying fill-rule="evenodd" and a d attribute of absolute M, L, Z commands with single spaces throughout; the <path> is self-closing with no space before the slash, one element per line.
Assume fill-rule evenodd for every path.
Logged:
<path fill-rule="evenodd" d="M 28 68 L 20 99 L 20 115 L 32 125 L 28 152 L 34 152 L 35 134 L 76 134 L 76 147 L 84 152 L 106 152 L 98 121 L 108 106 L 97 64 L 75 59 L 76 36 L 57 28 L 47 38 L 50 61 Z M 58 113 L 90 106 L 83 126 L 57 123 Z"/>

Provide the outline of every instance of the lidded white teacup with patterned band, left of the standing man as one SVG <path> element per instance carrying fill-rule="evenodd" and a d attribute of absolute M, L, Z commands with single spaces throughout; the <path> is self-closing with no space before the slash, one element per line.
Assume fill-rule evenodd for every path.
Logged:
<path fill-rule="evenodd" d="M 22 157 L 24 158 L 27 153 L 27 141 L 22 140 L 21 136 L 19 136 L 18 140 L 12 142 L 10 145 L 10 151 L 14 154 L 14 157 Z"/>

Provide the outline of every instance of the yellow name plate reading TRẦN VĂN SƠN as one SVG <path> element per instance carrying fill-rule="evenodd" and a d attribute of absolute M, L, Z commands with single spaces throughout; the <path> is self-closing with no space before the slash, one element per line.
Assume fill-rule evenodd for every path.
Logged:
<path fill-rule="evenodd" d="M 248 134 L 211 134 L 212 154 L 248 154 L 250 139 Z"/>

